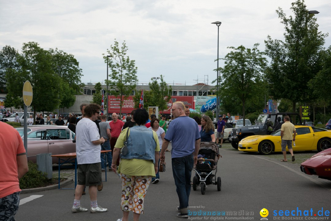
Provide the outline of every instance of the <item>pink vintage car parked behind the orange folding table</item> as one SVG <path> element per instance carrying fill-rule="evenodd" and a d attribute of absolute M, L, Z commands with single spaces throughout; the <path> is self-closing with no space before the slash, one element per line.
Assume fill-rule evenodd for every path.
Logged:
<path fill-rule="evenodd" d="M 24 128 L 15 128 L 24 139 Z M 66 126 L 32 125 L 27 132 L 27 160 L 36 162 L 39 153 L 64 154 L 76 152 L 75 134 Z M 58 163 L 57 157 L 52 158 L 52 163 Z"/>

